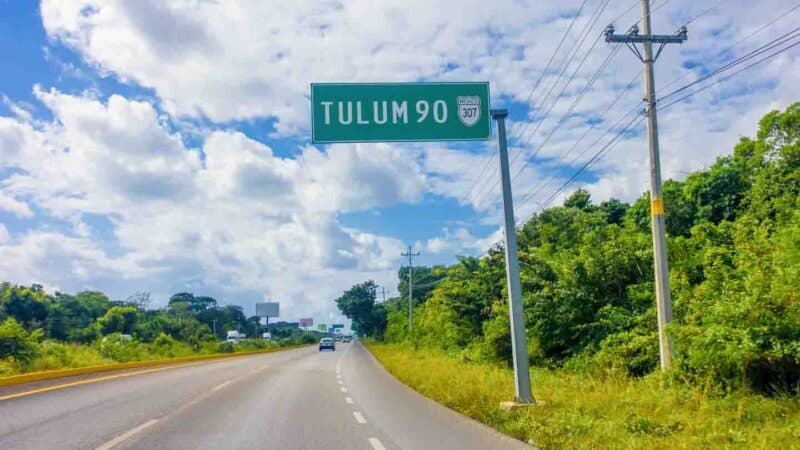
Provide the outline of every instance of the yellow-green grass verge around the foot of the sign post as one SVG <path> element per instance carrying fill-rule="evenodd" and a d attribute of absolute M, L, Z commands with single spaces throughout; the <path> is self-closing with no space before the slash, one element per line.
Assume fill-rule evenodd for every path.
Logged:
<path fill-rule="evenodd" d="M 464 363 L 434 350 L 368 343 L 400 381 L 503 433 L 543 449 L 800 449 L 800 398 L 747 393 L 711 397 L 689 387 L 662 387 L 656 376 L 595 379 L 533 369 L 542 406 L 506 412 L 513 374 Z"/>

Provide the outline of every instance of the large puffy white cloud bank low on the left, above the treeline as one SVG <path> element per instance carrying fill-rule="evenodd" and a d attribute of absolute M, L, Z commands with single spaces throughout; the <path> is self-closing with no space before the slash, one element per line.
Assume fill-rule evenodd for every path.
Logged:
<path fill-rule="evenodd" d="M 345 280 L 387 279 L 402 248 L 343 228 L 337 214 L 414 202 L 425 186 L 415 160 L 388 145 L 305 147 L 292 159 L 219 130 L 193 149 L 148 102 L 36 95 L 53 120 L 2 122 L 0 142 L 16 146 L 7 167 L 18 169 L 4 190 L 73 229 L 31 230 L 1 247 L 0 278 L 78 289 L 116 277 L 164 295 L 168 286 L 255 291 L 237 301 L 267 296 L 285 300 L 287 313 L 321 313 Z M 2 208 L 23 205 L 0 197 Z M 90 213 L 108 218 L 112 241 L 86 223 Z"/>

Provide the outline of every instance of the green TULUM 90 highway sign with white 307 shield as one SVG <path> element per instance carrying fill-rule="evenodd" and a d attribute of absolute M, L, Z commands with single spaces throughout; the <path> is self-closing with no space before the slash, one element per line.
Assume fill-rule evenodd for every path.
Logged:
<path fill-rule="evenodd" d="M 311 141 L 492 137 L 489 83 L 312 83 Z"/>

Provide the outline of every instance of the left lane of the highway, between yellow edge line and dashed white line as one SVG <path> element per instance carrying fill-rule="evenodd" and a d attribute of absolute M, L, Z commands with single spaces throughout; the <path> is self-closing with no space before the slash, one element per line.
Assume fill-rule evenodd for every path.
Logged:
<path fill-rule="evenodd" d="M 0 401 L 0 448 L 95 448 L 265 363 L 313 348 L 244 356 Z"/>

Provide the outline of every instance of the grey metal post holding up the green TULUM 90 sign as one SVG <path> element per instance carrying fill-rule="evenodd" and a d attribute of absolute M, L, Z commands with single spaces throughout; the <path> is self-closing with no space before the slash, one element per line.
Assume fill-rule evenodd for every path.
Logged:
<path fill-rule="evenodd" d="M 514 387 L 516 401 L 531 403 L 531 374 L 528 368 L 528 344 L 525 337 L 525 317 L 522 313 L 522 283 L 517 260 L 517 228 L 514 221 L 514 201 L 511 197 L 511 177 L 508 169 L 506 147 L 506 117 L 508 110 L 492 110 L 497 122 L 497 147 L 500 151 L 500 179 L 503 185 L 503 211 L 505 213 L 506 276 L 508 283 L 508 315 L 511 325 L 511 350 L 514 360 Z"/>

